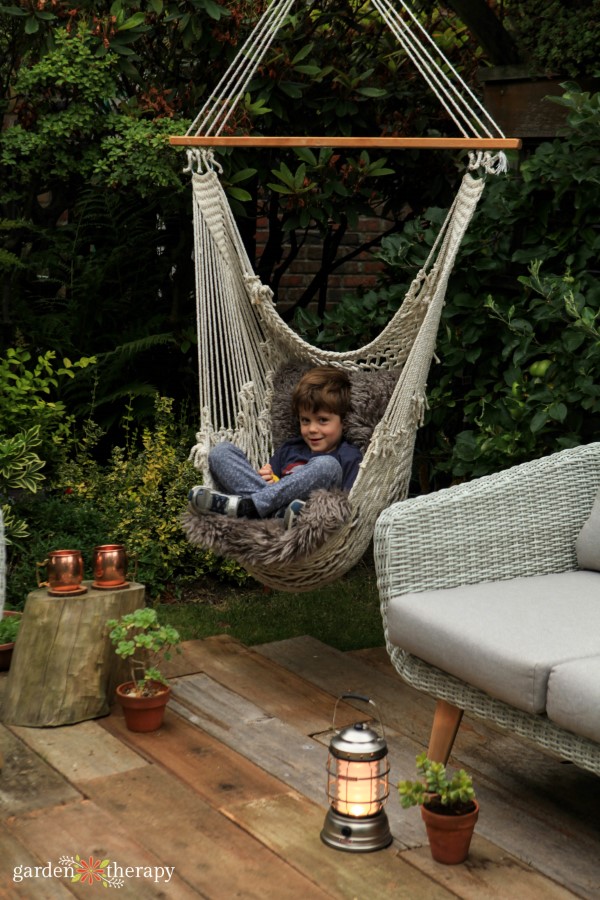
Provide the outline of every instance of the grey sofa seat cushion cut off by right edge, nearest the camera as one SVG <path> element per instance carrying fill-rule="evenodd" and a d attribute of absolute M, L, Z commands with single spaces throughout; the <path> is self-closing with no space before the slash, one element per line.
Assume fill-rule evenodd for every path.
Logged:
<path fill-rule="evenodd" d="M 600 656 L 554 666 L 546 712 L 562 728 L 600 742 Z"/>

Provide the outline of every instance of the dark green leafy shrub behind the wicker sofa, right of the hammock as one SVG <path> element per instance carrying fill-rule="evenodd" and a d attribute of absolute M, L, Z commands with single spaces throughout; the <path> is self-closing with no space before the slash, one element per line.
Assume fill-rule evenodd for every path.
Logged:
<path fill-rule="evenodd" d="M 422 490 L 600 438 L 600 94 L 561 102 L 568 135 L 490 181 L 455 263 L 417 436 Z M 445 215 L 429 209 L 385 238 L 381 288 L 305 316 L 304 333 L 335 349 L 377 333 Z"/>

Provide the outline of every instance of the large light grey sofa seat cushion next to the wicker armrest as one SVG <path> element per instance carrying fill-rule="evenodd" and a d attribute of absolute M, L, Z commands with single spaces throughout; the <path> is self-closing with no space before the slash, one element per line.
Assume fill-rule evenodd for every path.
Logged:
<path fill-rule="evenodd" d="M 575 570 L 404 594 L 390 602 L 388 634 L 492 697 L 541 713 L 554 666 L 600 656 L 600 574 Z"/>

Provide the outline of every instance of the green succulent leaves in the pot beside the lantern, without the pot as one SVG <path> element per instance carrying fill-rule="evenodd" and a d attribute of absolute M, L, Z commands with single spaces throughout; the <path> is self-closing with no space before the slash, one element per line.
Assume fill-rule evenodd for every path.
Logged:
<path fill-rule="evenodd" d="M 473 781 L 464 769 L 459 769 L 450 778 L 446 766 L 428 759 L 425 752 L 417 756 L 416 763 L 421 780 L 398 783 L 398 795 L 404 809 L 425 806 L 447 815 L 461 815 L 473 809 Z"/>

